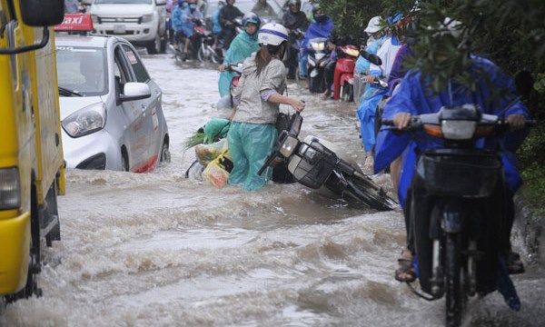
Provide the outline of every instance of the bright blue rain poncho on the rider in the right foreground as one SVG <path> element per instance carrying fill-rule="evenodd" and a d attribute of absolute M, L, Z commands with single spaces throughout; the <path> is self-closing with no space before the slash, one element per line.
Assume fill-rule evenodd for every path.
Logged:
<path fill-rule="evenodd" d="M 496 85 L 497 89 L 508 90 L 510 94 L 515 94 L 515 87 L 512 79 L 500 71 L 500 68 L 490 61 L 472 56 L 475 60 L 475 66 L 490 74 L 490 81 Z M 443 105 L 460 105 L 460 104 L 476 104 L 481 108 L 484 114 L 497 114 L 504 117 L 510 114 L 522 114 L 529 117 L 529 111 L 520 101 L 515 102 L 505 112 L 502 111 L 512 101 L 505 99 L 500 101 L 500 105 L 490 102 L 489 84 L 485 78 L 474 72 L 474 77 L 478 79 L 479 92 L 466 92 L 460 85 L 451 83 L 451 95 L 448 90 L 442 91 L 434 96 L 427 92 L 430 87 L 426 84 L 432 84 L 431 78 L 425 79 L 427 82 L 421 84 L 421 73 L 409 71 L 401 81 L 399 92 L 391 97 L 391 100 L 384 107 L 382 117 L 384 119 L 393 119 L 395 114 L 410 113 L 410 114 L 431 114 L 437 113 Z M 519 172 L 516 168 L 516 157 L 514 152 L 521 144 L 526 135 L 526 131 L 514 132 L 506 134 L 501 138 L 490 136 L 480 139 L 477 147 L 495 149 L 500 146 L 503 169 L 505 172 L 506 182 L 511 191 L 516 191 L 522 183 Z M 423 152 L 432 148 L 441 148 L 440 139 L 433 138 L 427 134 L 418 133 L 411 138 L 411 134 L 394 134 L 391 131 L 381 131 L 377 136 L 377 144 L 375 149 L 374 170 L 375 173 L 386 168 L 394 159 L 403 154 L 401 163 L 401 178 L 398 189 L 398 196 L 401 205 L 405 202 L 407 189 L 411 185 L 412 176 L 414 174 L 414 164 L 417 159 L 416 150 Z"/>

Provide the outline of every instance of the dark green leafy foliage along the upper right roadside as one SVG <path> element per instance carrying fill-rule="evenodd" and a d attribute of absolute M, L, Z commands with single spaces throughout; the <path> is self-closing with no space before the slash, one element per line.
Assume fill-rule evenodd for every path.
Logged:
<path fill-rule="evenodd" d="M 446 79 L 455 78 L 471 87 L 472 81 L 464 74 L 469 64 L 467 54 L 490 58 L 515 78 L 522 100 L 530 107 L 537 125 L 532 127 L 519 150 L 520 171 L 525 187 L 523 195 L 533 208 L 534 215 L 545 214 L 545 1 L 543 0 L 320 0 L 322 10 L 332 16 L 335 33 L 347 42 L 364 44 L 363 29 L 375 15 L 388 17 L 401 13 L 404 17 L 418 15 L 421 26 L 433 25 L 444 17 L 463 23 L 469 35 L 467 46 L 451 47 L 444 54 L 448 66 L 439 67 L 434 56 L 433 28 L 420 28 L 414 51 L 418 65 L 425 72 L 438 73 L 434 88 L 439 90 Z M 390 26 L 402 33 L 400 26 Z M 418 55 L 421 54 L 421 55 Z M 500 96 L 500 94 L 499 94 Z"/>

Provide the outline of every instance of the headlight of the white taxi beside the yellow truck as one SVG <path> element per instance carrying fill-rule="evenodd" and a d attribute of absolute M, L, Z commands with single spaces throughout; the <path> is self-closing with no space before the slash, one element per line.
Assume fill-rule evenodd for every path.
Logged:
<path fill-rule="evenodd" d="M 72 137 L 80 137 L 100 131 L 106 124 L 104 103 L 88 105 L 64 118 L 64 131 Z"/>

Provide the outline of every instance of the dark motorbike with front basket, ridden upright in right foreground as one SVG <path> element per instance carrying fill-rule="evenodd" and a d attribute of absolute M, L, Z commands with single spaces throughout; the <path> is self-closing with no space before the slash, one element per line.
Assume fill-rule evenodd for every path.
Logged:
<path fill-rule="evenodd" d="M 507 131 L 504 118 L 481 114 L 474 104 L 414 115 L 399 131 L 428 134 L 444 144 L 419 154 L 405 210 L 421 292 L 407 284 L 428 301 L 446 298 L 447 326 L 460 325 L 468 297 L 476 294 L 497 290 L 511 309 L 520 309 L 506 263 L 509 231 L 501 154 L 476 146 L 482 137 Z"/>

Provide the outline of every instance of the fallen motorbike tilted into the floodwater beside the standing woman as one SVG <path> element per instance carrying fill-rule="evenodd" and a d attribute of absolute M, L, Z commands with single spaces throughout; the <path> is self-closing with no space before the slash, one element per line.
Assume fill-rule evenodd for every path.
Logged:
<path fill-rule="evenodd" d="M 288 127 L 280 134 L 258 174 L 263 174 L 269 167 L 287 163 L 295 182 L 318 190 L 326 197 L 353 199 L 378 211 L 398 207 L 340 147 L 312 135 L 301 141 L 301 126 L 302 115 L 292 114 Z"/>

